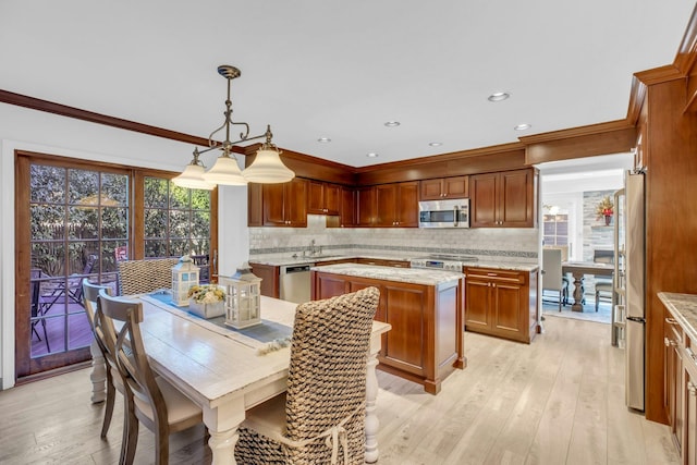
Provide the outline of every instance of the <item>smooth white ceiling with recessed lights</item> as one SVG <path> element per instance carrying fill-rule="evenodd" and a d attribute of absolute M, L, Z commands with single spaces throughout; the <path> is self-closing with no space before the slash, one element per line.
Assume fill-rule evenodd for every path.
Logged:
<path fill-rule="evenodd" d="M 624 119 L 632 74 L 673 62 L 693 8 L 2 0 L 0 89 L 207 137 L 223 118 L 217 66 L 232 64 L 233 117 L 252 135 L 268 123 L 281 147 L 363 167 Z M 500 90 L 512 97 L 487 100 Z"/>

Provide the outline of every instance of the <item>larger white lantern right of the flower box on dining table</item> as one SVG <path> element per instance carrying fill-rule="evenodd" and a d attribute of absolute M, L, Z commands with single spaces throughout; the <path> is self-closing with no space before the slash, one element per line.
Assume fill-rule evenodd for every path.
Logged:
<path fill-rule="evenodd" d="M 241 329 L 261 322 L 261 278 L 252 273 L 249 265 L 230 278 L 220 277 L 219 284 L 225 286 L 225 325 Z"/>

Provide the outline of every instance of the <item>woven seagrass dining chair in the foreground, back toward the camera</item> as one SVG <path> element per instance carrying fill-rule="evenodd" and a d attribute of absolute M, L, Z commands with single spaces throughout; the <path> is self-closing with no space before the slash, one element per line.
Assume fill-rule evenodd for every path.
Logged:
<path fill-rule="evenodd" d="M 366 287 L 298 305 L 288 391 L 247 412 L 237 463 L 365 463 L 367 353 L 379 297 Z"/>

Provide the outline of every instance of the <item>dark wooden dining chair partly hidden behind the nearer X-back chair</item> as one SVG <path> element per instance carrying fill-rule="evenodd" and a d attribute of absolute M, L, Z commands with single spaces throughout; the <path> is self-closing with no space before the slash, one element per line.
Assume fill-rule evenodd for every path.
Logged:
<path fill-rule="evenodd" d="M 107 346 L 105 345 L 103 330 L 102 328 L 96 327 L 97 325 L 102 325 L 101 320 L 96 320 L 97 305 L 99 305 L 99 291 L 103 290 L 106 293 L 111 293 L 111 287 L 89 282 L 87 279 L 83 280 L 82 287 L 83 306 L 85 307 L 87 321 L 89 322 L 89 328 L 95 336 L 95 342 L 97 343 L 99 353 L 101 353 L 102 359 L 105 360 L 105 368 L 107 371 L 107 399 L 105 403 L 105 419 L 101 425 L 100 433 L 101 438 L 106 438 L 107 432 L 109 431 L 109 426 L 111 425 L 111 417 L 113 416 L 115 392 L 119 391 L 121 394 L 124 394 L 123 379 L 121 378 L 118 368 L 115 368 L 115 359 L 109 354 Z M 111 363 L 109 357 L 111 357 Z"/>

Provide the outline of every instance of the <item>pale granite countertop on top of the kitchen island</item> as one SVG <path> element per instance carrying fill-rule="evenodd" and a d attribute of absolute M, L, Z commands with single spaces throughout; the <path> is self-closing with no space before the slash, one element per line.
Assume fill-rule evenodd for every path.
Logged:
<path fill-rule="evenodd" d="M 456 281 L 464 277 L 456 271 L 440 271 L 424 268 L 393 268 L 374 265 L 338 264 L 314 267 L 313 271 L 343 274 L 348 277 L 369 278 L 384 281 L 408 282 L 413 284 L 438 285 Z"/>

